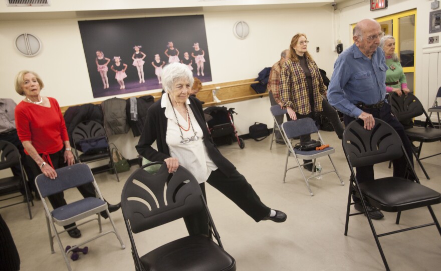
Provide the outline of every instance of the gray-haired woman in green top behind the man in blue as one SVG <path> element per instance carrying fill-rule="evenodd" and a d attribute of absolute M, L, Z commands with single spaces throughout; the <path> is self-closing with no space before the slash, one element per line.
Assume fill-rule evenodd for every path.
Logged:
<path fill-rule="evenodd" d="M 380 40 L 379 45 L 386 56 L 386 92 L 395 92 L 398 96 L 402 93 L 409 93 L 407 88 L 406 75 L 400 64 L 399 58 L 395 53 L 395 38 L 391 35 L 385 35 Z"/>

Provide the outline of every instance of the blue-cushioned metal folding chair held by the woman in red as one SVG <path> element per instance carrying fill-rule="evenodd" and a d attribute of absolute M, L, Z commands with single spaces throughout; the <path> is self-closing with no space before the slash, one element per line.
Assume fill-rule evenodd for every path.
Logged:
<path fill-rule="evenodd" d="M 87 242 L 90 242 L 98 237 L 106 235 L 107 233 L 111 233 L 111 232 L 115 233 L 116 237 L 118 238 L 121 244 L 121 248 L 124 249 L 125 245 L 121 237 L 119 236 L 119 233 L 115 227 L 115 223 L 112 220 L 112 217 L 110 216 L 110 212 L 107 208 L 107 202 L 104 201 L 104 198 L 101 195 L 101 192 L 98 188 L 98 185 L 96 184 L 95 178 L 93 177 L 90 167 L 85 163 L 77 163 L 74 165 L 58 168 L 56 169 L 56 171 L 58 176 L 55 179 L 50 179 L 46 177 L 44 174 L 40 174 L 36 178 L 37 189 L 38 192 L 40 193 L 40 197 L 42 199 L 42 203 L 45 208 L 46 222 L 48 225 L 49 241 L 51 244 L 52 253 L 55 253 L 54 250 L 54 237 L 55 237 L 60 246 L 60 250 L 63 254 L 64 260 L 66 261 L 67 268 L 69 269 L 69 271 L 71 271 L 72 268 L 69 263 L 69 259 L 67 258 L 67 253 Z M 95 192 L 97 194 L 97 197 L 86 197 L 77 200 L 75 202 L 66 204 L 64 206 L 58 207 L 52 211 L 49 210 L 48 204 L 46 203 L 46 199 L 45 199 L 47 196 L 60 193 L 69 188 L 77 187 L 90 182 L 95 187 Z M 113 230 L 102 232 L 101 215 L 100 215 L 101 211 L 107 212 Z M 96 217 L 95 214 L 98 214 L 98 217 Z M 65 226 L 89 216 L 94 216 L 94 217 L 82 221 L 76 226 L 88 223 L 93 220 L 98 220 L 99 234 L 91 237 L 88 240 L 80 242 L 77 245 L 72 246 L 70 249 L 66 251 L 61 242 L 59 233 L 68 231 L 76 226 L 67 228 L 62 231 L 58 231 L 55 224 L 60 226 Z"/>

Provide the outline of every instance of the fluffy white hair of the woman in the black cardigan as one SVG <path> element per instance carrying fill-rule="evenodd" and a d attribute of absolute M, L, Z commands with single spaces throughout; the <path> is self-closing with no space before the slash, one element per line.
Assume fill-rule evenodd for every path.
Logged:
<path fill-rule="evenodd" d="M 193 74 L 191 70 L 188 69 L 187 65 L 179 62 L 166 65 L 161 72 L 162 87 L 165 92 L 171 93 L 174 83 L 182 78 L 190 83 L 190 87 L 193 86 Z"/>

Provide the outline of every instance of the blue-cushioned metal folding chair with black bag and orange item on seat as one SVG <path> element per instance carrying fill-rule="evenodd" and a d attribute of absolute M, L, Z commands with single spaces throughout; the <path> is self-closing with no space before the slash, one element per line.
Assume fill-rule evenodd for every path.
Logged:
<path fill-rule="evenodd" d="M 317 129 L 317 126 L 315 125 L 315 122 L 312 118 L 306 117 L 306 118 L 301 118 L 301 119 L 297 119 L 297 120 L 290 120 L 287 122 L 284 122 L 282 124 L 282 135 L 284 136 L 284 140 L 285 143 L 286 142 L 290 142 L 290 140 L 292 138 L 298 137 L 300 135 L 304 135 L 304 134 L 310 134 L 310 133 L 317 133 L 318 135 L 318 139 L 322 142 L 322 145 L 325 144 L 323 138 L 320 135 L 319 130 Z M 305 150 L 298 150 L 296 148 L 293 147 L 293 145 L 291 143 L 287 144 L 288 146 L 288 153 L 286 155 L 286 162 L 285 162 L 285 173 L 283 175 L 283 182 L 285 182 L 285 178 L 286 178 L 286 172 L 290 169 L 296 168 L 298 167 L 300 172 L 302 173 L 303 179 L 306 182 L 306 186 L 308 187 L 309 193 L 311 195 L 314 195 L 314 193 L 311 191 L 311 188 L 309 187 L 309 179 L 313 178 L 313 177 L 317 177 L 320 175 L 324 175 L 330 172 L 335 172 L 338 176 L 338 178 L 340 179 L 341 185 L 344 185 L 343 180 L 341 179 L 340 175 L 338 174 L 337 168 L 334 165 L 334 162 L 332 161 L 331 158 L 331 154 L 335 152 L 335 149 L 333 147 L 327 147 L 324 148 L 322 150 L 309 150 L 309 151 L 305 151 Z M 296 166 L 290 167 L 288 168 L 288 158 L 290 156 L 294 156 L 294 158 L 296 159 Z M 312 172 L 315 171 L 315 162 L 316 159 L 322 156 L 328 156 L 329 160 L 331 161 L 332 167 L 334 168 L 333 170 L 329 170 L 329 171 L 325 171 L 325 172 L 321 172 L 317 175 L 311 175 L 308 178 L 305 176 L 305 173 L 303 172 L 303 168 L 299 159 L 305 159 L 305 160 L 313 160 L 312 163 Z M 303 161 L 302 161 L 303 162 Z"/>

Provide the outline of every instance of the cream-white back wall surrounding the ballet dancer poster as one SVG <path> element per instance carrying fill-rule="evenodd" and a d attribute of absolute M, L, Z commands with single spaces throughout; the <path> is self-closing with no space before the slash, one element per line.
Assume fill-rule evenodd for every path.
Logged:
<path fill-rule="evenodd" d="M 319 67 L 329 73 L 332 71 L 336 53 L 332 50 L 333 10 L 330 6 L 205 12 L 204 16 L 213 83 L 257 77 L 262 68 L 279 59 L 280 52 L 288 48 L 291 37 L 297 32 L 307 34 L 311 41 L 310 52 Z M 250 25 L 250 35 L 245 40 L 233 34 L 233 25 L 238 20 L 245 20 Z M 15 49 L 13 41 L 23 32 L 33 33 L 42 40 L 40 54 L 26 57 Z M 319 53 L 315 51 L 317 46 Z M 0 68 L 2 97 L 19 102 L 22 97 L 14 90 L 14 77 L 21 69 L 31 69 L 45 82 L 43 95 L 57 98 L 61 106 L 106 99 L 92 96 L 77 19 L 0 21 L 0 48 L 4 60 Z M 145 93 L 149 92 L 152 91 Z M 235 118 L 239 134 L 248 133 L 248 127 L 255 121 L 273 126 L 268 97 L 226 106 L 235 107 L 239 113 Z M 137 138 L 133 138 L 131 131 L 111 139 L 126 157 L 136 156 Z"/>

